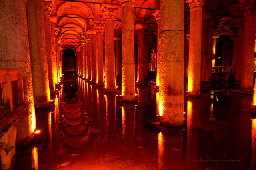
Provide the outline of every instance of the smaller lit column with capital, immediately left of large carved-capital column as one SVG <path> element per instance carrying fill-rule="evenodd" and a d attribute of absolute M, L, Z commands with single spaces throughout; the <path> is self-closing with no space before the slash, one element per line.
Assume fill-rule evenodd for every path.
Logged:
<path fill-rule="evenodd" d="M 103 42 L 102 35 L 104 24 L 100 20 L 94 21 L 94 29 L 96 32 L 96 59 L 97 59 L 97 86 L 104 86 L 104 64 L 103 64 Z M 105 38 L 106 39 L 106 38 Z"/>

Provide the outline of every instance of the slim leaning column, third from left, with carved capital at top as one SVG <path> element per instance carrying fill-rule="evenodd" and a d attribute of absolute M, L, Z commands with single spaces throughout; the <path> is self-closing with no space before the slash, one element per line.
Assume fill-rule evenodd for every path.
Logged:
<path fill-rule="evenodd" d="M 46 44 L 46 56 L 48 65 L 48 77 L 50 94 L 55 94 L 54 84 L 54 72 L 52 67 L 52 35 L 51 35 L 51 14 L 52 14 L 52 1 L 44 0 L 44 30 L 45 30 L 45 44 Z"/>

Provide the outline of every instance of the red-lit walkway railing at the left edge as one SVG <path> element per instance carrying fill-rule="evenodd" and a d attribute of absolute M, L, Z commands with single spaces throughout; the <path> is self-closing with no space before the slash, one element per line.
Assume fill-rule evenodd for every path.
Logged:
<path fill-rule="evenodd" d="M 18 69 L 0 69 L 0 105 L 13 112 L 13 105 L 24 103 L 22 74 Z"/>

